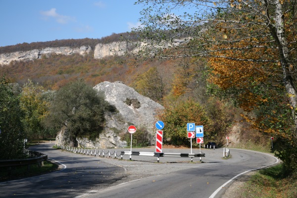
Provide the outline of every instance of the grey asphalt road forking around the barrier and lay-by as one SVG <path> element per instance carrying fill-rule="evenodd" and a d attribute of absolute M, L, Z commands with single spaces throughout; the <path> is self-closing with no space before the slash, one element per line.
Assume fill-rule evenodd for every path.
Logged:
<path fill-rule="evenodd" d="M 246 171 L 277 162 L 275 157 L 255 151 L 231 149 L 232 157 L 222 159 L 223 149 L 201 149 L 199 158 L 124 155 L 124 160 L 87 156 L 42 144 L 34 149 L 49 155 L 66 169 L 44 176 L 0 183 L 0 197 L 10 198 L 215 198 L 221 197 L 232 178 Z M 114 149 L 110 149 L 111 152 Z M 117 151 L 130 150 L 117 148 Z M 105 150 L 106 152 L 107 150 Z M 150 151 L 137 149 L 133 151 Z M 190 149 L 163 149 L 189 153 Z M 199 153 L 199 149 L 193 149 Z M 237 178 L 235 178 L 237 179 Z M 226 184 L 228 181 L 230 183 Z"/>

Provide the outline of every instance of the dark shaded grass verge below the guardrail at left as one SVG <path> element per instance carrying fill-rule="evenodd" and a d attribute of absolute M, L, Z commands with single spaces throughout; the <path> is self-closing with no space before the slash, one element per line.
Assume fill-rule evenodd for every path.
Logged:
<path fill-rule="evenodd" d="M 39 176 L 55 171 L 57 168 L 57 164 L 49 161 L 44 161 L 44 165 L 42 167 L 39 167 L 38 164 L 31 164 L 29 170 L 27 170 L 27 166 L 14 166 L 10 171 L 8 167 L 1 167 L 0 182 Z"/>

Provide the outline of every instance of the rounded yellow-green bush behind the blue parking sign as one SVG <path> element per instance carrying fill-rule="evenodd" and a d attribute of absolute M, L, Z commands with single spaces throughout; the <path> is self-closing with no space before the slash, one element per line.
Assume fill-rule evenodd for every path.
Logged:
<path fill-rule="evenodd" d="M 187 123 L 203 125 L 206 134 L 209 132 L 209 118 L 205 109 L 193 100 L 179 101 L 168 105 L 158 117 L 165 123 L 163 143 L 189 146 Z M 205 133 L 204 132 L 204 133 Z"/>

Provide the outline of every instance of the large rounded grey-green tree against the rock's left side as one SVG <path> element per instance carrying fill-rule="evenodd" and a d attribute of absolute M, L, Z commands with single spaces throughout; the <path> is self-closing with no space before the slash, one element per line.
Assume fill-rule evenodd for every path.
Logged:
<path fill-rule="evenodd" d="M 51 101 L 48 125 L 60 129 L 65 127 L 69 141 L 76 146 L 76 138 L 96 138 L 104 126 L 104 111 L 115 111 L 98 93 L 83 81 L 66 84 L 59 89 Z"/>

